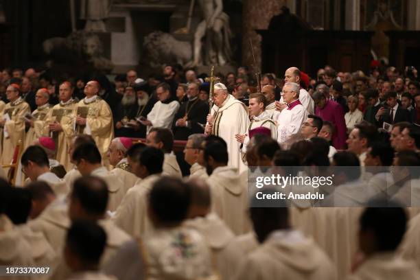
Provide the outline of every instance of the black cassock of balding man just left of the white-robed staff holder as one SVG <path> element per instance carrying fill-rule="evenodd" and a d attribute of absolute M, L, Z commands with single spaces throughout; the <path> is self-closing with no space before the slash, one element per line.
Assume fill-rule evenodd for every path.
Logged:
<path fill-rule="evenodd" d="M 188 126 L 175 126 L 178 119 L 182 119 L 187 114 Z M 189 135 L 194 133 L 204 133 L 207 115 L 209 114 L 209 103 L 202 101 L 196 97 L 194 100 L 188 100 L 180 105 L 178 112 L 174 117 L 174 124 L 172 125 L 172 132 L 174 132 L 174 139 L 187 140 Z"/>

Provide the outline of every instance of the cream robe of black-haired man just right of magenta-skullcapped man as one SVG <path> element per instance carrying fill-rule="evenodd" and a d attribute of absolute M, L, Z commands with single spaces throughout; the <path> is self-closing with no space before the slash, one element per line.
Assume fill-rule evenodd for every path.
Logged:
<path fill-rule="evenodd" d="M 150 175 L 128 189 L 113 215 L 115 224 L 132 237 L 141 237 L 153 230 L 148 217 L 148 194 L 159 177 L 158 174 Z"/>

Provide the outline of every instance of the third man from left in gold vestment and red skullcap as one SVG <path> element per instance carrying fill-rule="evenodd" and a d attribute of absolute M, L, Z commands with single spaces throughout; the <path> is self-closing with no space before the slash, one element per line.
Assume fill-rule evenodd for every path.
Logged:
<path fill-rule="evenodd" d="M 67 172 L 71 170 L 69 148 L 74 137 L 74 124 L 78 102 L 73 100 L 73 86 L 70 82 L 60 84 L 60 103 L 55 105 L 47 115 L 45 130 L 56 142 L 56 159 Z"/>

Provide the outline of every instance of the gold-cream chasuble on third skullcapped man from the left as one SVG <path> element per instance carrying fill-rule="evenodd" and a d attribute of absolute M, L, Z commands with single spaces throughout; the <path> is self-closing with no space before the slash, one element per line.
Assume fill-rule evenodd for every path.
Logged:
<path fill-rule="evenodd" d="M 45 125 L 44 134 L 50 135 L 56 142 L 56 159 L 61 163 L 67 172 L 73 164 L 70 162 L 69 147 L 74 137 L 74 122 L 78 103 L 71 99 L 67 102 L 60 102 L 49 111 Z M 48 125 L 57 121 L 62 127 L 60 132 L 49 132 Z"/>

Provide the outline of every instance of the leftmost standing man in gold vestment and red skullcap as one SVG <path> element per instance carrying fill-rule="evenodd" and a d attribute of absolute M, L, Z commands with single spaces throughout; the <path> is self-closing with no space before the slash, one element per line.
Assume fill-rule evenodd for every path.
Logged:
<path fill-rule="evenodd" d="M 31 113 L 29 104 L 22 98 L 18 84 L 10 84 L 6 89 L 6 97 L 10 101 L 6 104 L 0 119 L 3 128 L 1 164 L 10 164 L 13 159 L 14 149 L 21 141 L 21 150 L 25 140 L 25 115 Z M 8 172 L 8 169 L 5 170 Z"/>

